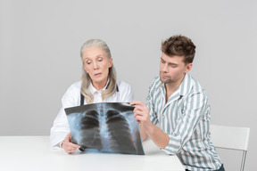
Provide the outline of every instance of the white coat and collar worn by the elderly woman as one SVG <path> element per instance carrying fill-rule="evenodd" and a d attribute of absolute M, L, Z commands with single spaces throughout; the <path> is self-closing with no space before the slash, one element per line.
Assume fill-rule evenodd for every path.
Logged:
<path fill-rule="evenodd" d="M 131 86 L 124 81 L 117 81 L 117 85 L 119 92 L 116 91 L 115 94 L 104 100 L 104 102 L 132 102 L 134 96 Z M 66 93 L 62 96 L 62 108 L 54 119 L 54 126 L 51 128 L 50 134 L 51 146 L 54 148 L 62 148 L 62 141 L 70 132 L 70 126 L 64 109 L 80 105 L 80 87 L 81 81 L 78 81 L 73 85 L 70 85 Z M 97 91 L 92 84 L 89 86 L 89 91 L 94 95 L 94 103 L 103 102 L 101 92 L 105 88 L 106 86 L 102 90 Z M 84 104 L 87 104 L 86 100 L 84 101 Z"/>

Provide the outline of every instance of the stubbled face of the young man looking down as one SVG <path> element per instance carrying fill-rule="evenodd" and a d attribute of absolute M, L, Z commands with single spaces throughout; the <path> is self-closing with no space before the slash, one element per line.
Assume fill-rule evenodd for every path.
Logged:
<path fill-rule="evenodd" d="M 181 82 L 185 74 L 192 68 L 192 63 L 183 61 L 183 56 L 168 56 L 162 53 L 160 62 L 160 78 L 162 83 L 176 84 Z"/>

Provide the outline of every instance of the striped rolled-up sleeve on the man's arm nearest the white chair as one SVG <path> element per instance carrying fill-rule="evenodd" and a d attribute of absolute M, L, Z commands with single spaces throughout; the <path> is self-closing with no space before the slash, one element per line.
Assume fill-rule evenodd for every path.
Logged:
<path fill-rule="evenodd" d="M 162 149 L 169 154 L 177 154 L 194 134 L 195 127 L 209 107 L 206 94 L 203 92 L 189 94 L 184 101 L 184 109 L 179 109 L 177 126 L 171 134 L 169 144 Z M 181 111 L 182 110 L 182 111 Z M 197 137 L 195 137 L 197 138 Z"/>

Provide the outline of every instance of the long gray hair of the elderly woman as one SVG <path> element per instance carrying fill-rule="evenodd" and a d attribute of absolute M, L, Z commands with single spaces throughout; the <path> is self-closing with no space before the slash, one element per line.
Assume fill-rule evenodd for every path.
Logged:
<path fill-rule="evenodd" d="M 104 52 L 106 53 L 106 56 L 107 56 L 108 60 L 110 60 L 112 58 L 111 51 L 110 51 L 108 45 L 103 40 L 90 39 L 86 43 L 84 43 L 80 48 L 80 57 L 81 57 L 81 60 L 82 60 L 82 65 L 84 64 L 83 59 L 82 59 L 83 53 L 86 51 L 86 49 L 88 47 L 91 47 L 91 46 L 97 46 L 97 47 L 102 48 L 104 50 Z M 108 77 L 109 77 L 109 85 L 102 92 L 103 101 L 104 101 L 104 99 L 107 99 L 108 97 L 112 96 L 112 94 L 114 94 L 116 89 L 117 89 L 117 87 L 116 87 L 117 86 L 117 84 L 116 84 L 116 70 L 114 68 L 113 62 L 112 62 L 112 67 L 109 68 Z M 85 69 L 83 69 L 83 67 L 82 67 L 81 81 L 82 81 L 81 90 L 80 90 L 81 94 L 84 95 L 87 104 L 93 103 L 94 102 L 94 96 L 88 90 L 88 87 L 91 83 L 91 77 L 87 74 L 87 71 Z"/>

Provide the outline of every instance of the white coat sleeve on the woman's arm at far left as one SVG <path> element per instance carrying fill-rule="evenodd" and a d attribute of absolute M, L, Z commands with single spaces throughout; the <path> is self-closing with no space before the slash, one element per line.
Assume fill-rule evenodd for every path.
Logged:
<path fill-rule="evenodd" d="M 62 108 L 54 119 L 54 125 L 50 131 L 50 142 L 53 148 L 62 148 L 62 141 L 70 132 L 70 126 L 64 109 L 77 105 L 75 96 L 76 94 L 74 94 L 74 90 L 71 87 L 62 96 Z"/>

